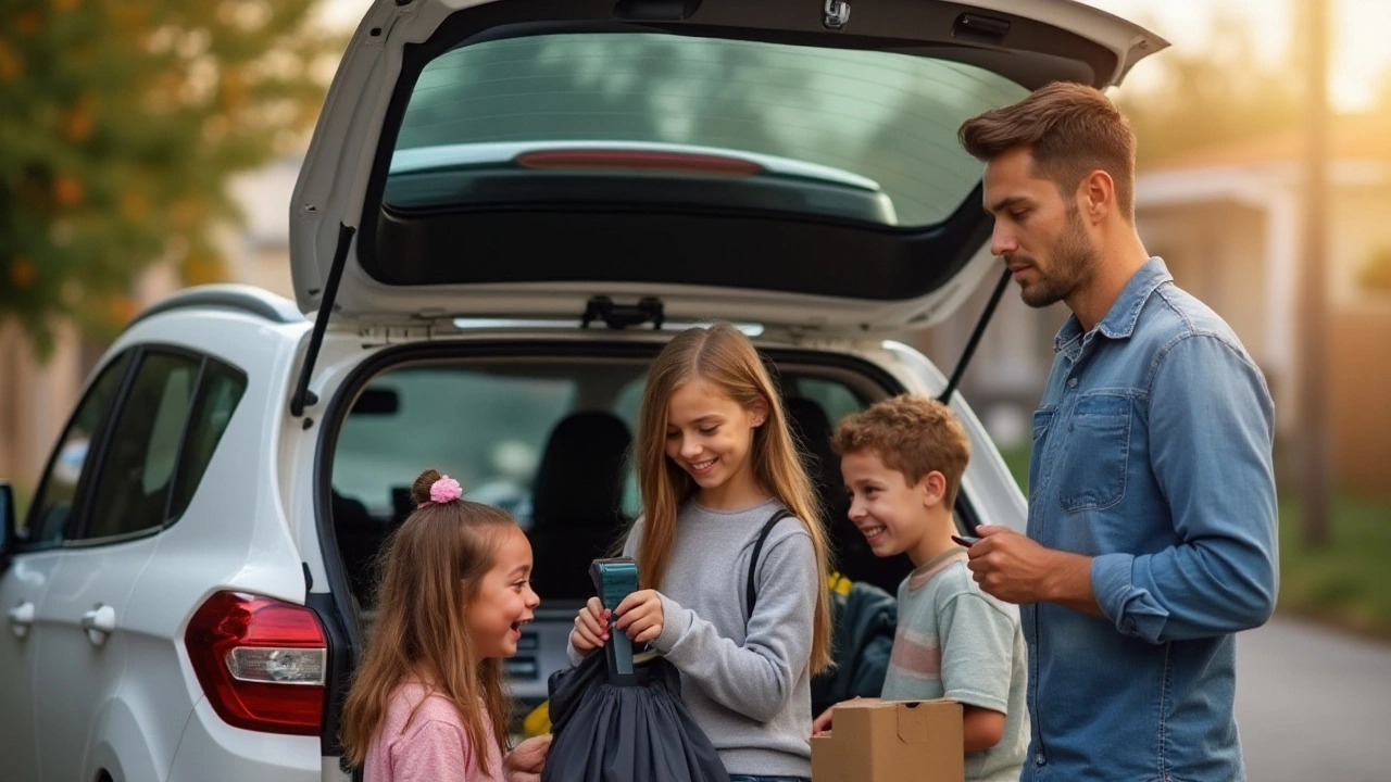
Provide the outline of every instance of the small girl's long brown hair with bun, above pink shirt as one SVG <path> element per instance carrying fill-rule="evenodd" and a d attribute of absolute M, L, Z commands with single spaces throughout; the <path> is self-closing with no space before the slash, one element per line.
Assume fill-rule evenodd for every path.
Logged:
<path fill-rule="evenodd" d="M 491 505 L 431 502 L 430 487 L 437 480 L 435 470 L 420 473 L 410 487 L 419 508 L 378 557 L 377 619 L 348 692 L 341 737 L 348 760 L 362 765 L 385 724 L 392 693 L 419 680 L 453 701 L 469 744 L 477 747 L 479 769 L 487 775 L 487 729 L 479 701 L 487 707 L 498 750 L 505 751 L 510 699 L 504 692 L 501 660 L 472 662 L 473 643 L 463 616 L 492 568 L 499 533 L 516 522 Z"/>

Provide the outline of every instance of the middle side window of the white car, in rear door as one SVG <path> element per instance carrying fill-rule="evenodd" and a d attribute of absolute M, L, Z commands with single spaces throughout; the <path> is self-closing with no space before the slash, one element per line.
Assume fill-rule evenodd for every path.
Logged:
<path fill-rule="evenodd" d="M 81 538 L 124 536 L 159 527 L 202 359 L 146 352 L 125 397 L 102 459 Z"/>

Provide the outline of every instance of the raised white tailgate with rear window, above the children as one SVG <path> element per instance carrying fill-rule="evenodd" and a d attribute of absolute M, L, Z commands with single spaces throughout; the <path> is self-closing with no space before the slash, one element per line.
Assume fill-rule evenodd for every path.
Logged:
<path fill-rule="evenodd" d="M 346 327 L 595 296 L 931 326 L 989 266 L 960 122 L 1163 46 L 1070 0 L 378 0 L 295 191 L 296 296 Z"/>

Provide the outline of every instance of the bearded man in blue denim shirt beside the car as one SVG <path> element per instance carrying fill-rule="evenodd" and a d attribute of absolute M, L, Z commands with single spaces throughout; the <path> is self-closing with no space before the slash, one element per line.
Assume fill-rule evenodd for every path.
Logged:
<path fill-rule="evenodd" d="M 1231 328 L 1135 232 L 1135 136 L 1053 83 L 961 125 L 990 252 L 1072 312 L 1038 412 L 1028 536 L 981 527 L 970 568 L 1024 607 L 1024 779 L 1244 779 L 1232 633 L 1276 601 L 1273 409 Z"/>

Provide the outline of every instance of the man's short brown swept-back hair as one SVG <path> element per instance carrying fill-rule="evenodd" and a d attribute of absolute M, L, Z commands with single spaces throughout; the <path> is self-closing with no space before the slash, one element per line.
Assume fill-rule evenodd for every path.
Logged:
<path fill-rule="evenodd" d="M 1100 90 L 1053 82 L 1011 106 L 992 109 L 961 124 L 961 146 L 989 163 L 1029 147 L 1034 173 L 1070 198 L 1082 178 L 1100 168 L 1116 182 L 1116 203 L 1135 221 L 1135 134 Z"/>

